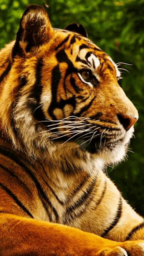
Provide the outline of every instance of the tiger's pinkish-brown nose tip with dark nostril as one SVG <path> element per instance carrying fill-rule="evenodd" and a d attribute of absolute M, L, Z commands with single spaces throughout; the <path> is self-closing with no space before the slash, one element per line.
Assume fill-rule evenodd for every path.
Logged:
<path fill-rule="evenodd" d="M 126 131 L 132 127 L 133 124 L 138 120 L 138 116 L 136 117 L 130 117 L 130 116 L 122 116 L 121 114 L 117 114 L 118 120 L 120 121 L 120 124 L 124 127 Z"/>

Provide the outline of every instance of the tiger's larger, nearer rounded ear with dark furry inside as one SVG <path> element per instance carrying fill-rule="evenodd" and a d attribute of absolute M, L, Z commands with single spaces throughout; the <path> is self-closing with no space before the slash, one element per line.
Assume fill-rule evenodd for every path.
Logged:
<path fill-rule="evenodd" d="M 47 12 L 36 4 L 29 5 L 20 20 L 12 58 L 14 59 L 17 54 L 25 56 L 33 46 L 48 42 L 51 36 L 52 26 Z"/>

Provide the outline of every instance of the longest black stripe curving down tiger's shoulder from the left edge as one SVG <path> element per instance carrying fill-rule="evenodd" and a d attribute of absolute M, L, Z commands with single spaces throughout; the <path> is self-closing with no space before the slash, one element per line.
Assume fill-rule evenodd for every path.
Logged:
<path fill-rule="evenodd" d="M 42 187 L 40 185 L 40 183 L 38 182 L 38 180 L 36 179 L 35 175 L 33 174 L 33 172 L 30 170 L 30 168 L 28 168 L 21 160 L 20 158 L 14 154 L 13 152 L 11 152 L 10 150 L 0 146 L 0 153 L 3 154 L 4 156 L 7 156 L 8 158 L 10 158 L 12 161 L 16 162 L 16 164 L 18 164 L 19 166 L 21 166 L 23 168 L 23 170 L 30 176 L 30 178 L 32 179 L 32 181 L 35 183 L 35 186 L 38 190 L 38 196 L 40 198 L 40 200 L 42 201 L 42 198 L 44 198 L 44 200 L 46 200 L 47 204 L 50 206 L 50 208 L 53 210 L 54 215 L 56 217 L 56 221 L 58 220 L 58 214 L 56 212 L 56 209 L 54 208 L 54 206 L 52 206 L 52 203 L 50 202 L 50 200 L 48 199 L 48 197 L 46 196 L 46 193 L 42 190 Z M 46 205 L 44 204 L 44 208 L 46 209 L 46 211 L 48 211 L 48 208 L 46 207 Z"/>

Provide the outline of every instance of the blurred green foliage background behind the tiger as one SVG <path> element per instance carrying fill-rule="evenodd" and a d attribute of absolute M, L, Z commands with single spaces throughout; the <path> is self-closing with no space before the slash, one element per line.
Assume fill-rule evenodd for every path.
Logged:
<path fill-rule="evenodd" d="M 19 20 L 28 4 L 42 0 L 0 0 L 0 48 L 14 40 Z M 52 26 L 82 24 L 89 38 L 121 64 L 120 85 L 139 111 L 128 161 L 108 167 L 108 175 L 126 200 L 144 216 L 144 0 L 48 0 Z M 130 149 L 131 150 L 131 149 Z M 112 170 L 112 172 L 111 172 Z"/>

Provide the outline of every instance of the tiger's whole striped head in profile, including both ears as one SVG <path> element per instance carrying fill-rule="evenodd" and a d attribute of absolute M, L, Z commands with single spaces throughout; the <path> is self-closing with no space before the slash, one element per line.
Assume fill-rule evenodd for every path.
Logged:
<path fill-rule="evenodd" d="M 36 157 L 73 147 L 122 160 L 138 112 L 118 67 L 82 25 L 52 28 L 46 11 L 30 5 L 0 60 L 0 116 L 15 146 Z"/>

